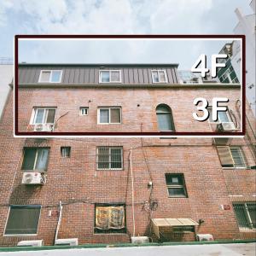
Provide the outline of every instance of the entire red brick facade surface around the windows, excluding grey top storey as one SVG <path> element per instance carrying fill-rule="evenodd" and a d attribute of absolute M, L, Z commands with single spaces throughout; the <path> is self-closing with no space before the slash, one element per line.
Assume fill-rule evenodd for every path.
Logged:
<path fill-rule="evenodd" d="M 32 108 L 56 106 L 58 114 L 70 111 L 58 128 L 94 129 L 97 131 L 157 131 L 155 108 L 166 103 L 172 108 L 177 130 L 211 131 L 206 122 L 195 122 L 189 112 L 195 96 L 227 96 L 230 109 L 236 109 L 240 90 L 228 89 L 35 89 L 19 91 L 20 130 L 27 131 Z M 79 107 L 90 102 L 90 114 L 79 116 Z M 140 105 L 139 107 L 137 105 Z M 98 106 L 121 106 L 122 125 L 96 125 Z M 138 111 L 138 109 L 140 109 Z M 252 122 L 252 113 L 247 111 Z M 239 113 L 235 113 L 239 119 Z M 29 127 L 28 127 L 29 129 Z M 247 128 L 248 131 L 250 130 Z M 252 132 L 248 137 L 231 139 L 240 145 L 247 166 L 254 166 Z M 45 245 L 54 244 L 55 230 L 62 202 L 62 218 L 58 238 L 79 238 L 84 243 L 130 242 L 133 230 L 131 201 L 131 164 L 134 179 L 135 235 L 154 236 L 151 218 L 191 218 L 204 222 L 196 227 L 199 234 L 212 234 L 214 239 L 244 239 L 255 237 L 255 230 L 241 232 L 232 202 L 255 201 L 255 170 L 223 168 L 216 145 L 211 138 L 14 138 L 13 95 L 3 112 L 0 123 L 0 245 L 15 246 L 20 240 L 43 239 Z M 61 157 L 61 147 L 71 147 L 70 158 Z M 123 170 L 96 170 L 96 147 L 123 147 Z M 47 181 L 41 186 L 21 184 L 21 165 L 24 147 L 49 147 Z M 166 187 L 166 173 L 182 173 L 188 197 L 171 198 Z M 153 182 L 152 189 L 148 182 Z M 149 200 L 157 202 L 148 211 Z M 96 234 L 95 204 L 121 203 L 125 205 L 126 232 L 124 234 Z M 4 236 L 10 205 L 42 206 L 37 236 Z M 223 205 L 230 206 L 224 210 Z M 165 230 L 164 230 L 165 231 Z M 191 241 L 195 234 L 171 234 L 172 241 Z M 165 233 L 164 232 L 164 233 Z"/>

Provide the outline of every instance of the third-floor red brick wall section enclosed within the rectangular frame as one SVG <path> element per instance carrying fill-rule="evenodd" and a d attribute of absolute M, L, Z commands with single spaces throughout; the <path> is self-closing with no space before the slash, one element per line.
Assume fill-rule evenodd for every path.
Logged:
<path fill-rule="evenodd" d="M 155 108 L 165 103 L 172 108 L 176 131 L 212 131 L 208 122 L 198 122 L 192 117 L 195 111 L 193 100 L 205 97 L 212 104 L 212 97 L 228 97 L 228 106 L 234 110 L 236 99 L 240 98 L 240 88 L 166 88 L 116 89 L 76 88 L 76 89 L 19 89 L 19 131 L 32 131 L 29 125 L 32 108 L 57 107 L 59 119 L 55 131 L 158 131 Z M 89 103 L 89 101 L 91 101 Z M 137 107 L 139 105 L 139 107 Z M 122 107 L 121 125 L 97 125 L 97 108 L 100 106 Z M 88 116 L 80 116 L 79 108 L 89 107 Z"/>

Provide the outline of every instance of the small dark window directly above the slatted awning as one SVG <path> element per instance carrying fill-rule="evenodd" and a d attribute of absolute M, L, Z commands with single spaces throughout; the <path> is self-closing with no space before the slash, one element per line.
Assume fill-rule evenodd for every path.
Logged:
<path fill-rule="evenodd" d="M 170 197 L 188 197 L 183 174 L 166 173 L 166 185 Z"/>

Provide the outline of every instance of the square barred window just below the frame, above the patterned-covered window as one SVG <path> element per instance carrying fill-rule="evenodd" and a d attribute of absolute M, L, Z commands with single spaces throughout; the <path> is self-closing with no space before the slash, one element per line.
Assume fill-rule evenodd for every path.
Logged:
<path fill-rule="evenodd" d="M 98 147 L 97 170 L 122 170 L 123 148 L 122 147 Z"/>

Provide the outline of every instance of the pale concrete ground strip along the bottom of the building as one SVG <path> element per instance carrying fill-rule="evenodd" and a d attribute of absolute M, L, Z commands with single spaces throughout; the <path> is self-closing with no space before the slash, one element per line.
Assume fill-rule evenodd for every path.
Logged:
<path fill-rule="evenodd" d="M 0 252 L 0 256 L 255 256 L 256 243 L 56 249 L 49 251 Z"/>

